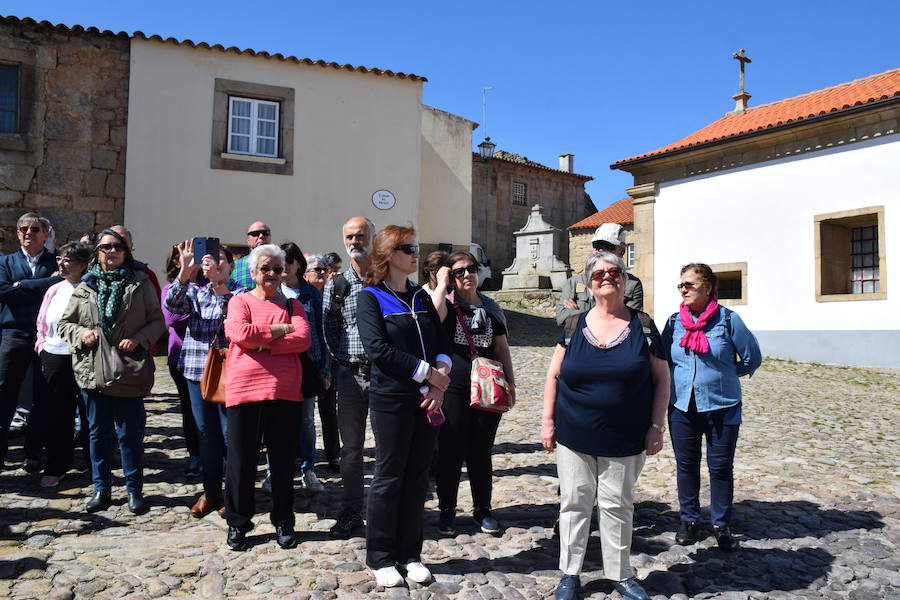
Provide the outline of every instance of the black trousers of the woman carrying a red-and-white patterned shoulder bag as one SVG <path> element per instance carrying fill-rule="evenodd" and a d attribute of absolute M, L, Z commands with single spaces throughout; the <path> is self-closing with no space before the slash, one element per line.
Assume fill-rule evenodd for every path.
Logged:
<path fill-rule="evenodd" d="M 501 413 L 469 406 L 469 394 L 444 394 L 444 424 L 438 441 L 437 492 L 441 510 L 455 509 L 463 462 L 476 510 L 491 507 L 491 450 Z"/>

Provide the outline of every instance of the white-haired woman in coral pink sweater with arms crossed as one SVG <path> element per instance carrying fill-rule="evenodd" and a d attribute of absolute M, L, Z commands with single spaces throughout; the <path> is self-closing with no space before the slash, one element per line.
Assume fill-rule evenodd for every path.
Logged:
<path fill-rule="evenodd" d="M 270 517 L 278 545 L 293 548 L 297 545 L 293 465 L 303 401 L 298 353 L 309 349 L 311 333 L 303 305 L 287 300 L 280 291 L 284 251 L 273 244 L 259 246 L 247 264 L 256 287 L 234 296 L 225 318 L 225 335 L 231 342 L 225 380 L 227 543 L 232 550 L 247 549 L 260 438 L 265 436 L 272 473 Z"/>

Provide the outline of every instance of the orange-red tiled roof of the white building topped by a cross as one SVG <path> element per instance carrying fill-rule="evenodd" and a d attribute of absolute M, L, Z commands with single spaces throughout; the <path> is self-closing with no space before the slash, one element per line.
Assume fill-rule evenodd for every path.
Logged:
<path fill-rule="evenodd" d="M 888 71 L 884 71 L 882 73 L 875 73 L 873 75 L 867 75 L 866 77 L 861 77 L 859 79 L 854 79 L 852 81 L 839 83 L 839 84 L 829 86 L 827 88 L 823 88 L 820 90 L 805 92 L 803 94 L 798 94 L 797 96 L 791 96 L 789 98 L 783 98 L 781 100 L 767 102 L 766 104 L 760 104 L 759 106 L 753 106 L 753 107 L 748 108 L 747 111 L 745 113 L 743 113 L 743 115 L 754 115 L 755 113 L 758 113 L 762 110 L 771 109 L 772 107 L 778 106 L 780 104 L 785 104 L 788 102 L 796 102 L 796 101 L 802 100 L 804 98 L 811 98 L 811 97 L 815 97 L 817 95 L 824 95 L 829 92 L 841 90 L 843 88 L 847 88 L 847 87 L 850 87 L 853 85 L 861 85 L 861 84 L 867 83 L 869 81 L 873 81 L 875 79 L 879 79 L 879 78 L 883 78 L 883 77 L 890 77 L 890 76 L 897 75 L 897 74 L 900 74 L 900 68 L 889 69 Z M 865 100 L 856 100 L 852 103 L 844 103 L 842 106 L 832 108 L 828 111 L 820 111 L 818 113 L 810 113 L 808 115 L 800 115 L 800 116 L 797 116 L 794 118 L 789 118 L 787 120 L 780 120 L 775 123 L 769 123 L 767 125 L 751 128 L 748 130 L 741 130 L 741 131 L 738 131 L 738 132 L 735 132 L 732 134 L 724 135 L 722 137 L 712 137 L 708 140 L 703 140 L 700 142 L 687 143 L 684 145 L 680 145 L 680 143 L 682 141 L 687 140 L 693 136 L 696 136 L 697 134 L 702 132 L 704 129 L 711 128 L 715 124 L 720 123 L 729 117 L 743 116 L 743 115 L 733 115 L 732 113 L 726 113 L 725 116 L 723 116 L 721 119 L 713 121 L 709 125 L 706 125 L 705 127 L 698 129 L 697 131 L 681 138 L 680 140 L 678 140 L 676 142 L 667 144 L 665 146 L 662 146 L 660 148 L 657 148 L 656 150 L 647 152 L 645 154 L 639 154 L 639 155 L 632 156 L 629 158 L 623 158 L 623 159 L 618 160 L 618 161 L 614 162 L 613 164 L 609 165 L 609 168 L 613 169 L 613 170 L 621 169 L 622 167 L 630 166 L 630 165 L 641 163 L 641 162 L 646 162 L 649 160 L 654 160 L 654 159 L 660 158 L 662 156 L 669 156 L 672 154 L 681 154 L 684 152 L 690 152 L 690 151 L 697 150 L 700 148 L 714 146 L 716 144 L 719 144 L 719 143 L 722 143 L 725 141 L 733 141 L 733 140 L 743 139 L 743 138 L 747 138 L 747 137 L 763 135 L 763 134 L 771 132 L 771 131 L 777 131 L 780 129 L 796 127 L 799 125 L 816 122 L 819 120 L 831 119 L 831 118 L 843 116 L 846 114 L 852 114 L 854 112 L 872 110 L 872 109 L 878 108 L 883 105 L 889 105 L 889 104 L 895 104 L 895 103 L 900 103 L 900 89 L 893 91 L 893 93 L 890 95 L 882 94 L 878 98 L 869 97 L 869 98 L 866 98 Z"/>

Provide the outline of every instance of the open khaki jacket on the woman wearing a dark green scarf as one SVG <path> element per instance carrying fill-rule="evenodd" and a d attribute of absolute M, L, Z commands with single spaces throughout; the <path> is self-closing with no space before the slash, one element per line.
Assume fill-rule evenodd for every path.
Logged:
<path fill-rule="evenodd" d="M 91 310 L 91 305 L 94 306 L 94 310 Z M 97 310 L 97 290 L 88 281 L 82 281 L 72 292 L 69 305 L 63 311 L 56 327 L 59 336 L 72 348 L 75 381 L 78 387 L 86 390 L 97 388 L 94 371 L 97 345 L 86 348 L 81 336 L 88 329 L 100 329 L 100 324 L 94 320 L 95 310 Z M 145 273 L 135 271 L 134 281 L 125 287 L 122 308 L 109 336 L 110 344 L 115 345 L 131 338 L 145 350 L 149 350 L 165 330 L 166 323 L 156 290 Z M 150 390 L 146 393 L 150 393 Z"/>

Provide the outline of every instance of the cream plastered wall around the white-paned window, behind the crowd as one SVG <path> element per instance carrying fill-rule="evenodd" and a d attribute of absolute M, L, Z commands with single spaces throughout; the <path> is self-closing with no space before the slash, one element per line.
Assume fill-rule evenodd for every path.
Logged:
<path fill-rule="evenodd" d="M 210 167 L 216 78 L 295 90 L 293 175 Z M 417 81 L 133 39 L 125 223 L 138 256 L 160 272 L 168 245 L 244 244 L 255 220 L 306 252 L 342 251 L 354 215 L 417 224 L 421 96 Z M 373 206 L 381 189 L 394 208 Z"/>

